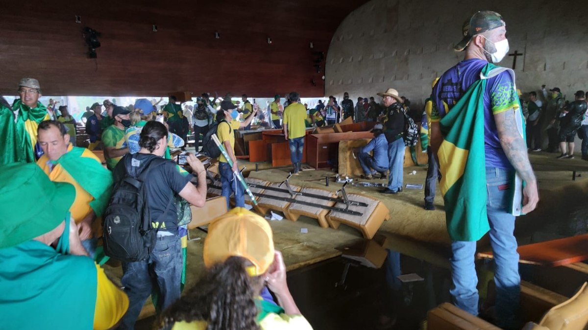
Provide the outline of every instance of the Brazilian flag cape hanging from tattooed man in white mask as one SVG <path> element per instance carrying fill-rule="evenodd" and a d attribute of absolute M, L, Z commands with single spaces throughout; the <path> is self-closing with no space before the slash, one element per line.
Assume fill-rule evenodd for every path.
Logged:
<path fill-rule="evenodd" d="M 447 232 L 453 241 L 477 241 L 490 230 L 486 213 L 486 155 L 484 149 L 484 93 L 487 79 L 499 73 L 515 73 L 489 63 L 440 122 L 443 142 L 439 147 L 440 190 L 445 200 Z M 516 87 L 515 87 L 516 88 Z M 520 106 L 515 109 L 519 133 L 524 139 Z M 520 215 L 522 180 L 515 174 L 511 189 L 513 215 Z"/>

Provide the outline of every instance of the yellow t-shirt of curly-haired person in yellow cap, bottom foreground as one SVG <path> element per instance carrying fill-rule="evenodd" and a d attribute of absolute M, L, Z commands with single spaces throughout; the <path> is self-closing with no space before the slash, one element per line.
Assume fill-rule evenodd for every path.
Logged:
<path fill-rule="evenodd" d="M 206 330 L 206 321 L 176 322 L 172 330 Z M 269 313 L 259 322 L 262 330 L 312 330 L 302 315 Z"/>

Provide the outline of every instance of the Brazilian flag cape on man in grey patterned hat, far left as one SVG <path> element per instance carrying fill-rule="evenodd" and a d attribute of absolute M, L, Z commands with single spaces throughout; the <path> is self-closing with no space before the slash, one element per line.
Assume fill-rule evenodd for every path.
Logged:
<path fill-rule="evenodd" d="M 16 161 L 34 163 L 36 160 L 36 129 L 43 120 L 49 120 L 47 108 L 41 102 L 37 102 L 36 107 L 29 107 L 24 105 L 20 99 L 17 99 L 12 104 L 12 110 L 18 111 L 14 122 L 15 139 L 5 140 L 3 142 L 6 144 L 4 147 L 6 150 L 15 150 Z M 2 116 L 1 124 L 5 124 L 4 116 Z"/>

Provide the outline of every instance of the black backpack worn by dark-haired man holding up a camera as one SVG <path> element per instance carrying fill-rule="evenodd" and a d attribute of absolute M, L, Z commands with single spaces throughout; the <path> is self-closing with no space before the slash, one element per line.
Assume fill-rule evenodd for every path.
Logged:
<path fill-rule="evenodd" d="M 131 163 L 136 160 L 129 155 L 122 161 L 125 162 L 126 176 L 115 184 L 110 203 L 103 214 L 104 252 L 108 257 L 120 261 L 135 262 L 149 257 L 161 227 L 161 224 L 158 228 L 151 226 L 145 181 L 152 169 L 171 160 L 153 157 L 136 176 L 130 174 L 133 173 Z M 172 201 L 173 197 L 162 215 Z"/>

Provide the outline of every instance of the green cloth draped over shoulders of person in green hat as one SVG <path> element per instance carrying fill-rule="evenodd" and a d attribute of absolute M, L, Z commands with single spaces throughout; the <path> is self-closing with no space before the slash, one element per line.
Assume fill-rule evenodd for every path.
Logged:
<path fill-rule="evenodd" d="M 91 258 L 32 240 L 1 248 L 0 328 L 92 329 L 97 285 Z"/>

